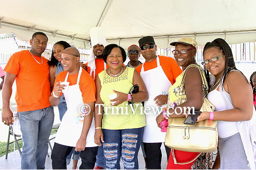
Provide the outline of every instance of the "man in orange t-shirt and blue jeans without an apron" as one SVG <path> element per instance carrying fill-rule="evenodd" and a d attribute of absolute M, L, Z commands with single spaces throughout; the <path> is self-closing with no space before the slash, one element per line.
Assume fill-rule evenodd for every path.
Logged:
<path fill-rule="evenodd" d="M 4 69 L 2 121 L 6 125 L 12 124 L 13 113 L 9 103 L 16 80 L 15 100 L 24 143 L 22 169 L 45 168 L 48 139 L 54 120 L 53 107 L 49 102 L 48 60 L 41 56 L 47 42 L 45 33 L 34 33 L 30 40 L 31 50 L 14 53 Z"/>

